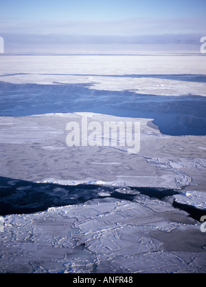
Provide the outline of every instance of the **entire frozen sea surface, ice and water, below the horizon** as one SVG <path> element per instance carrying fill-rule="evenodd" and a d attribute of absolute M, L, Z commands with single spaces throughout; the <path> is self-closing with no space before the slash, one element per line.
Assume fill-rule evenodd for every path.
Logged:
<path fill-rule="evenodd" d="M 0 57 L 1 273 L 205 273 L 205 59 Z M 139 152 L 68 147 L 82 117 Z"/>

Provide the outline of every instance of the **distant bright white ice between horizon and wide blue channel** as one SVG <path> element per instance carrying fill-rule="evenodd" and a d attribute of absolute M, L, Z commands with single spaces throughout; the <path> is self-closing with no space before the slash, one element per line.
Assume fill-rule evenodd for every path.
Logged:
<path fill-rule="evenodd" d="M 206 96 L 206 83 L 193 81 L 194 77 L 206 74 L 205 63 L 203 56 L 184 53 L 182 56 L 175 53 L 167 56 L 159 53 L 139 56 L 1 56 L 0 76 L 1 81 L 9 83 L 89 83 L 93 84 L 92 88 L 100 90 L 128 89 L 161 96 Z"/>

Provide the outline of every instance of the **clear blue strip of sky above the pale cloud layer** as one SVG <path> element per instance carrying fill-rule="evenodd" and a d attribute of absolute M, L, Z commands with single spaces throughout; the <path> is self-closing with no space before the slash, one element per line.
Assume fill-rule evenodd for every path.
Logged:
<path fill-rule="evenodd" d="M 205 17 L 205 0 L 1 0 L 1 18 L 17 20 L 119 20 Z"/>

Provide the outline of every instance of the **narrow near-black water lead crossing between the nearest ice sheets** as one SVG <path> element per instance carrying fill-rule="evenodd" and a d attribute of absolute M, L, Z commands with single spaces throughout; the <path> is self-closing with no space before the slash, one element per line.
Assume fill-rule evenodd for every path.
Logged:
<path fill-rule="evenodd" d="M 119 192 L 117 187 L 96 184 L 61 185 L 54 183 L 35 183 L 25 180 L 0 177 L 0 215 L 35 213 L 46 211 L 52 206 L 66 206 L 87 202 L 95 198 L 112 198 L 133 201 L 137 193 L 148 195 L 151 199 L 164 200 L 178 194 L 174 189 L 155 189 L 150 187 L 125 187 L 127 193 Z M 135 191 L 135 192 L 134 192 Z M 137 192 L 138 191 L 138 192 Z M 101 192 L 108 195 L 102 196 Z M 130 193 L 129 193 L 130 192 Z M 172 205 L 186 211 L 190 217 L 199 221 L 205 210 L 173 202 Z"/>

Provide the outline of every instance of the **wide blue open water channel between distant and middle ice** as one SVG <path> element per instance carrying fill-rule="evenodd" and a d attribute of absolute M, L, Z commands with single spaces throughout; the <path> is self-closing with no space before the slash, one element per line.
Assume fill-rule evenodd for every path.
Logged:
<path fill-rule="evenodd" d="M 187 81 L 188 76 L 182 75 L 182 78 Z M 193 81 L 205 81 L 205 78 L 198 76 Z M 206 135 L 206 98 L 203 96 L 154 96 L 128 91 L 98 91 L 86 84 L 17 85 L 0 82 L 0 116 L 76 111 L 154 118 L 153 123 L 161 133 L 171 136 Z"/>

